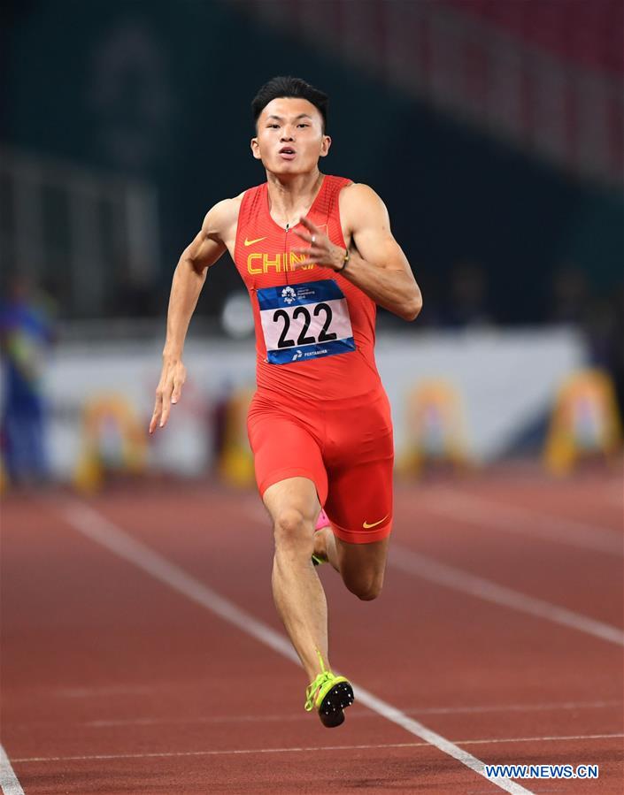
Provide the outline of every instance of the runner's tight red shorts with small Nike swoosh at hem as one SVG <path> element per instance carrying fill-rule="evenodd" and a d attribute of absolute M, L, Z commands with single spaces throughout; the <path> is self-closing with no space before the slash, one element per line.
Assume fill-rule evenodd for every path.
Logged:
<path fill-rule="evenodd" d="M 281 480 L 309 478 L 339 539 L 367 544 L 389 536 L 394 445 L 381 386 L 349 401 L 297 405 L 258 390 L 247 430 L 261 496 Z"/>

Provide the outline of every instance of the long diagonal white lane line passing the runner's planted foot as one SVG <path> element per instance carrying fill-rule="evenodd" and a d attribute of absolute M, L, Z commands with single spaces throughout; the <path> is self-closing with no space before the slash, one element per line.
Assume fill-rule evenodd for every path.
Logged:
<path fill-rule="evenodd" d="M 281 654 L 282 657 L 286 657 L 288 660 L 297 663 L 297 665 L 300 664 L 297 653 L 284 635 L 274 631 L 267 624 L 258 621 L 249 613 L 237 608 L 233 602 L 224 599 L 212 588 L 191 577 L 186 571 L 169 562 L 165 557 L 150 549 L 150 547 L 132 538 L 127 532 L 122 531 L 116 524 L 101 516 L 93 508 L 89 508 L 84 503 L 72 501 L 65 503 L 62 513 L 66 521 L 75 530 L 80 531 L 92 541 L 106 547 L 127 562 L 133 563 L 139 569 L 143 569 L 151 577 L 155 577 L 160 582 L 172 587 L 173 590 L 187 596 L 189 600 L 207 608 L 215 615 L 219 615 L 220 618 L 238 627 L 239 630 L 250 635 L 250 637 L 256 638 L 265 646 L 269 646 L 273 651 Z M 496 784 L 497 787 L 505 792 L 511 792 L 512 795 L 527 795 L 527 793 L 530 793 L 529 790 L 509 778 L 489 778 L 485 775 L 484 763 L 471 753 L 459 748 L 458 745 L 428 729 L 422 723 L 404 715 L 397 707 L 378 699 L 372 692 L 356 684 L 354 684 L 354 687 L 360 704 L 372 709 L 390 722 L 402 726 L 406 731 L 425 740 L 430 745 L 434 745 L 438 750 L 447 753 L 453 759 L 466 765 L 467 768 L 474 770 L 479 776 L 483 776 L 486 781 Z"/>

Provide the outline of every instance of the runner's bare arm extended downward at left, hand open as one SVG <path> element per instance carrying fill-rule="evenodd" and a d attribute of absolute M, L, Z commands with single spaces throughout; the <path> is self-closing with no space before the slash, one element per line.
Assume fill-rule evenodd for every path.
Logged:
<path fill-rule="evenodd" d="M 225 199 L 215 204 L 206 214 L 195 240 L 182 252 L 173 273 L 167 310 L 163 367 L 156 389 L 150 433 L 166 425 L 172 404 L 180 400 L 182 385 L 186 380 L 182 350 L 190 318 L 204 287 L 208 268 L 215 264 L 226 250 L 225 241 L 236 223 L 237 215 L 238 204 L 235 199 Z"/>

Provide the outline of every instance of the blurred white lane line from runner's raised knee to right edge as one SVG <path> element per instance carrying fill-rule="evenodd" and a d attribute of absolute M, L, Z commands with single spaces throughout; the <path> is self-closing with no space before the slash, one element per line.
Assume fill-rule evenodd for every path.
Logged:
<path fill-rule="evenodd" d="M 390 547 L 389 562 L 395 569 L 422 577 L 435 585 L 444 585 L 455 591 L 468 593 L 470 596 L 492 602 L 499 607 L 503 606 L 519 610 L 521 613 L 528 613 L 528 615 L 536 615 L 552 623 L 559 623 L 573 630 L 585 632 L 617 646 L 624 646 L 624 631 L 618 627 L 595 621 L 586 615 L 560 608 L 551 602 L 514 591 L 512 588 L 498 585 L 483 577 L 476 577 L 464 569 L 457 569 L 455 566 L 441 563 L 427 555 L 412 552 L 411 549 L 399 544 L 393 543 Z"/>

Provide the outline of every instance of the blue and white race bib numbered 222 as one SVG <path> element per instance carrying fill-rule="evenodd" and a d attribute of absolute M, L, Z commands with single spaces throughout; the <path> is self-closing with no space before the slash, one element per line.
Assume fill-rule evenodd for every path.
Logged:
<path fill-rule="evenodd" d="M 334 279 L 258 290 L 266 360 L 306 362 L 355 350 L 349 307 Z"/>

